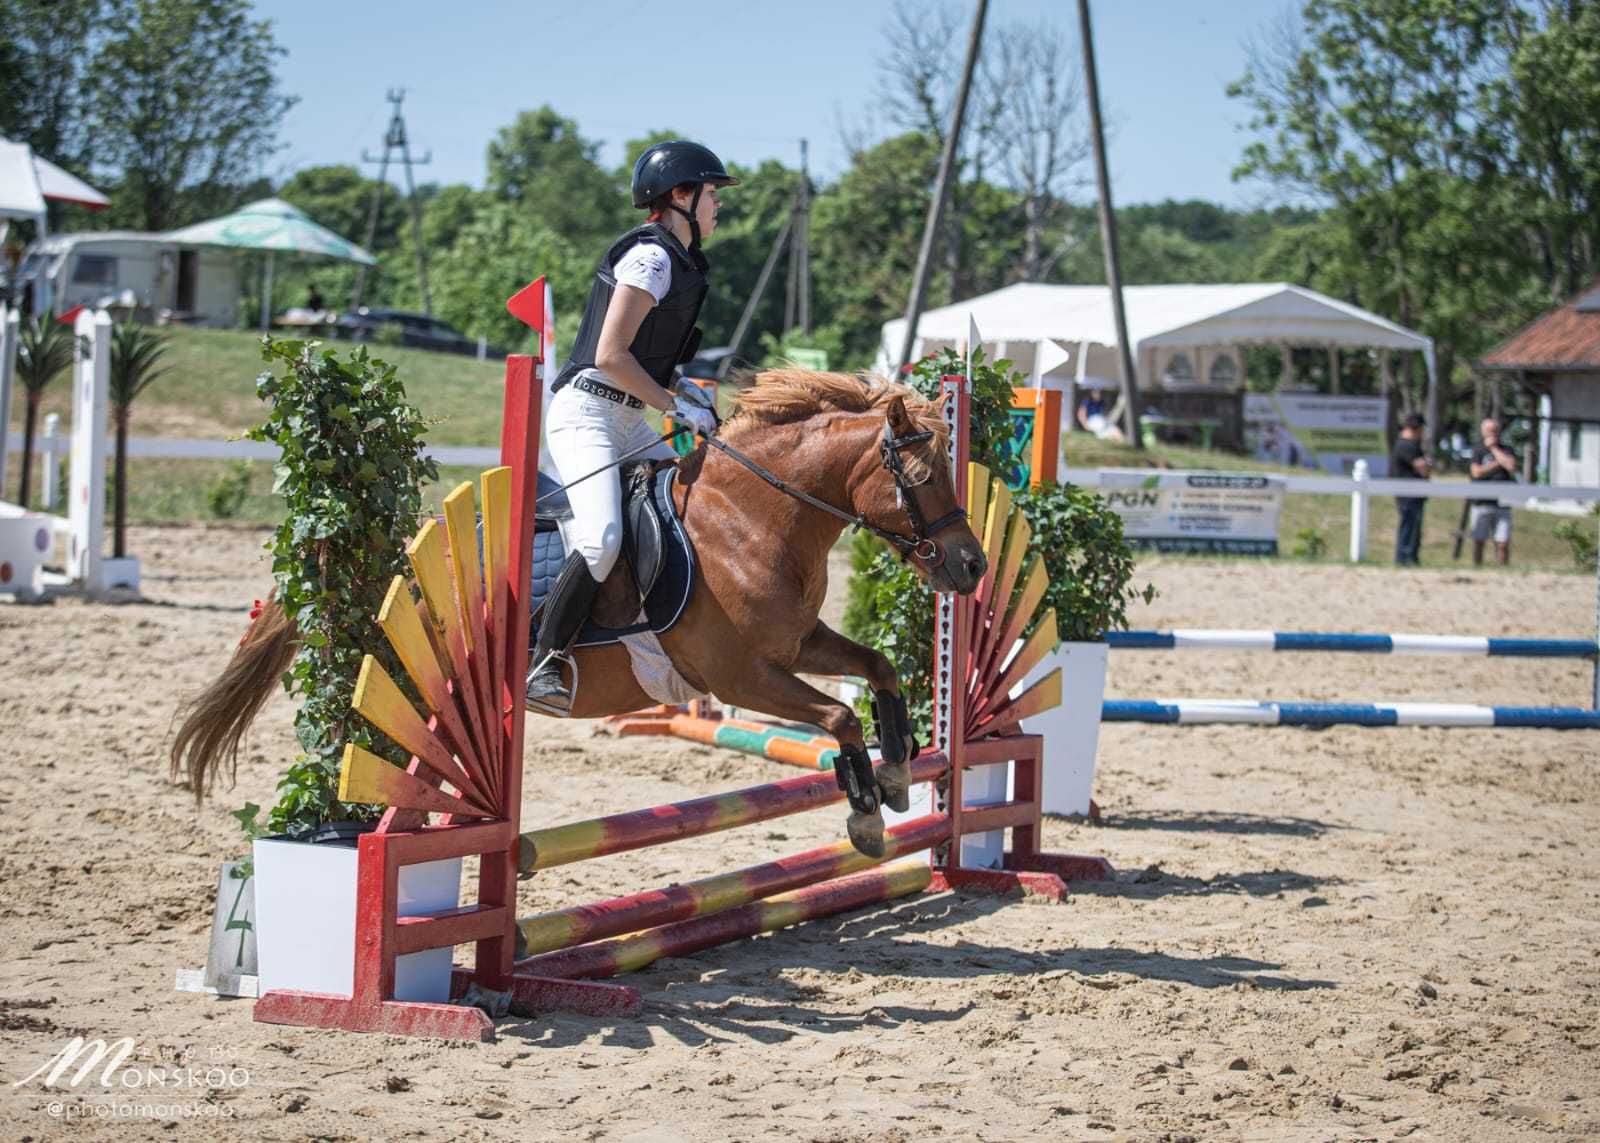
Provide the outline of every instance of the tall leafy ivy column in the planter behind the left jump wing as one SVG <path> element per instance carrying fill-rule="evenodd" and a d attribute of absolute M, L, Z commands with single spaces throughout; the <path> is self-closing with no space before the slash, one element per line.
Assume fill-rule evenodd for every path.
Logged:
<path fill-rule="evenodd" d="M 315 341 L 261 344 L 277 371 L 256 379 L 270 411 L 246 435 L 282 453 L 272 490 L 288 512 L 267 551 L 278 604 L 301 636 L 283 684 L 301 700 L 294 735 L 302 749 L 278 781 L 267 831 L 299 836 L 325 821 L 376 816 L 374 807 L 339 802 L 346 743 L 405 760 L 350 709 L 350 695 L 368 653 L 405 677 L 376 616 L 390 581 L 406 570 L 422 483 L 437 480 L 438 469 L 422 455 L 427 423 L 406 403 L 394 367 L 368 357 L 365 346 L 341 355 Z"/>

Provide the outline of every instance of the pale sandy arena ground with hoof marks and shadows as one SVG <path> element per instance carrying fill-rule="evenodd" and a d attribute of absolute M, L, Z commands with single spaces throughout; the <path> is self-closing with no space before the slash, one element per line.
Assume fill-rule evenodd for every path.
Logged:
<path fill-rule="evenodd" d="M 259 531 L 133 530 L 146 604 L 0 605 L 0 1124 L 8 1138 L 1517 1140 L 1600 1133 L 1600 735 L 1112 725 L 1107 856 L 1069 903 L 938 895 L 664 961 L 627 1021 L 488 1045 L 256 1025 L 173 991 L 205 959 L 227 812 L 294 752 L 282 696 L 237 788 L 166 781 L 178 701 L 267 594 Z M 1146 560 L 1133 626 L 1584 636 L 1582 576 Z M 842 584 L 835 576 L 835 607 Z M 1117 653 L 1110 695 L 1587 706 L 1574 661 Z M 787 770 L 530 719 L 526 826 Z M 843 810 L 565 866 L 525 912 L 842 837 Z M 235 1082 L 13 1087 L 70 1036 Z M 67 1122 L 91 1103 L 187 1116 Z M 59 1111 L 53 1111 L 58 1108 Z M 64 1105 L 64 1106 L 62 1106 Z M 226 1119 L 224 1119 L 226 1116 Z"/>

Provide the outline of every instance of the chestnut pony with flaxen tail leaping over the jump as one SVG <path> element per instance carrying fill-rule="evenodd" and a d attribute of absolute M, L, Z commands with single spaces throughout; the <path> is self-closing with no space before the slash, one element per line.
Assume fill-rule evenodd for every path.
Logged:
<path fill-rule="evenodd" d="M 947 426 L 936 403 L 899 384 L 770 370 L 739 395 L 718 440 L 800 495 L 774 487 L 720 448 L 702 447 L 680 461 L 675 501 L 694 544 L 699 581 L 677 624 L 659 636 L 661 645 L 698 690 L 835 736 L 851 842 L 882 855 L 880 804 L 906 805 L 915 744 L 890 661 L 819 620 L 827 555 L 846 522 L 861 520 L 885 535 L 936 591 L 965 596 L 978 588 L 987 563 L 955 503 Z M 618 567 L 630 589 L 624 562 Z M 597 610 L 606 608 L 619 573 L 608 580 Z M 189 706 L 171 757 L 174 773 L 186 773 L 197 796 L 214 767 L 235 757 L 245 728 L 286 669 L 294 639 L 293 624 L 269 602 L 224 674 Z M 654 704 L 634 679 L 624 647 L 573 655 L 579 687 L 571 717 Z M 883 743 L 877 770 L 854 711 L 800 672 L 867 680 Z"/>

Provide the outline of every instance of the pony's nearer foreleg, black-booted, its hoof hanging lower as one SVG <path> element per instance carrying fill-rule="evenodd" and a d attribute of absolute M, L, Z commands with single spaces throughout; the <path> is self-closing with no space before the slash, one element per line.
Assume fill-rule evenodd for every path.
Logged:
<path fill-rule="evenodd" d="M 882 804 L 886 799 L 872 772 L 867 740 L 854 711 L 792 672 L 762 661 L 742 666 L 731 685 L 717 687 L 717 698 L 778 719 L 821 727 L 838 740 L 834 776 L 850 799 L 850 842 L 867 856 L 883 856 Z"/>

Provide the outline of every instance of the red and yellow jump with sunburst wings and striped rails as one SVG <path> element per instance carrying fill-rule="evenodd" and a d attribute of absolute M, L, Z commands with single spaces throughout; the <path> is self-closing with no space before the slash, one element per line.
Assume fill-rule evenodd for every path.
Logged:
<path fill-rule="evenodd" d="M 520 298 L 542 299 L 542 280 Z M 542 327 L 542 307 L 530 325 Z M 512 312 L 523 315 L 517 299 Z M 454 944 L 475 944 L 472 969 L 456 969 L 451 996 L 494 994 L 518 1015 L 568 1010 L 630 1015 L 637 989 L 603 978 L 693 951 L 782 928 L 813 917 L 922 892 L 973 885 L 995 892 L 1026 888 L 1061 898 L 1067 879 L 1104 879 L 1102 858 L 1042 853 L 1037 735 L 1021 735 L 1022 717 L 1059 701 L 1059 674 L 1016 701 L 994 666 L 1032 613 L 997 612 L 1011 599 L 1026 530 L 1006 523 L 1003 490 L 990 493 L 986 472 L 971 482 L 973 519 L 989 520 L 986 538 L 1003 531 L 1019 541 L 968 599 L 939 597 L 939 741 L 912 764 L 917 783 L 931 783 L 934 812 L 888 831 L 882 858 L 856 853 L 848 840 L 778 861 L 734 869 L 536 917 L 515 917 L 517 874 L 661 845 L 722 829 L 802 813 L 843 800 L 834 775 L 811 773 L 675 805 L 520 831 L 522 749 L 526 701 L 530 554 L 538 469 L 539 360 L 506 362 L 502 467 L 445 499 L 445 523 L 424 525 L 408 547 L 413 576 L 397 578 L 378 623 L 426 711 L 416 709 L 373 658 L 363 664 L 354 706 L 411 754 L 405 768 L 357 746 L 346 749 L 341 797 L 387 804 L 378 829 L 358 839 L 355 972 L 350 996 L 274 989 L 254 1007 L 256 1020 L 349 1031 L 494 1037 L 485 1010 L 467 1004 L 397 1001 L 395 959 Z M 947 416 L 965 429 L 968 386 L 946 381 Z M 952 434 L 958 495 L 968 496 L 965 432 Z M 475 523 L 482 517 L 482 560 Z M 998 523 L 997 523 L 998 520 Z M 1024 525 L 1026 528 L 1026 525 Z M 992 552 L 998 547 L 990 546 Z M 1032 572 L 1029 573 L 1032 576 Z M 1029 583 L 1030 578 L 1024 576 Z M 1037 604 L 1037 599 L 1034 600 Z M 1051 624 L 1053 626 L 1053 624 Z M 1040 640 L 1029 640 L 1018 655 Z M 1051 639 L 1053 645 L 1053 639 Z M 994 666 L 986 666 L 994 664 Z M 989 674 L 982 674 L 982 671 Z M 1024 668 L 1026 669 L 1026 668 Z M 966 674 L 962 674 L 966 671 Z M 976 674 L 974 674 L 976 671 Z M 1010 671 L 1006 672 L 1010 674 Z M 1021 676 L 1018 676 L 1021 677 Z M 966 807 L 968 767 L 1011 764 L 1014 797 Z M 429 821 L 429 816 L 434 821 Z M 1003 868 L 965 868 L 963 836 L 1011 831 Z M 883 864 L 931 852 L 928 861 Z M 480 856 L 477 903 L 430 914 L 398 916 L 398 869 L 454 856 Z"/>

